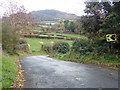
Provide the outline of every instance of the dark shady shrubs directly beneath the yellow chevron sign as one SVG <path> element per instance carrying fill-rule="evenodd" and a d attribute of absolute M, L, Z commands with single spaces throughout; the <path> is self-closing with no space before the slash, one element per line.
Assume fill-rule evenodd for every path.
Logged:
<path fill-rule="evenodd" d="M 108 53 L 108 54 L 118 54 L 119 53 L 119 43 L 117 42 L 107 42 L 105 39 L 94 38 L 90 44 L 94 48 L 94 52 L 97 54 Z"/>

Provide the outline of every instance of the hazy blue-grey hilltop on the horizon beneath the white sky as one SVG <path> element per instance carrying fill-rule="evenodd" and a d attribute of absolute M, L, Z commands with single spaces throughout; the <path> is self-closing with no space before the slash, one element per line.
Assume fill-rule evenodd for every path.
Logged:
<path fill-rule="evenodd" d="M 75 14 L 61 12 L 58 10 L 39 10 L 31 12 L 36 22 L 40 21 L 56 21 L 60 19 L 75 20 L 78 18 Z"/>

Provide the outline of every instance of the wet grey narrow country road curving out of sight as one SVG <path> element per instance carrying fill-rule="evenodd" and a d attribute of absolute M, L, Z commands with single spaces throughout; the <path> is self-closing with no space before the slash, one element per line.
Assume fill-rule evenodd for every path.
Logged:
<path fill-rule="evenodd" d="M 47 56 L 24 57 L 20 62 L 25 71 L 24 88 L 118 88 L 116 70 Z"/>

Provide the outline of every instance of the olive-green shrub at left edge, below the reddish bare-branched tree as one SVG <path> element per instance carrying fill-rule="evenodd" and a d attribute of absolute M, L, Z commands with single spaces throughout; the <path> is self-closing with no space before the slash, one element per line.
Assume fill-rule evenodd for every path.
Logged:
<path fill-rule="evenodd" d="M 9 22 L 2 23 L 2 48 L 10 54 L 17 51 L 19 45 L 19 34 L 13 31 Z"/>

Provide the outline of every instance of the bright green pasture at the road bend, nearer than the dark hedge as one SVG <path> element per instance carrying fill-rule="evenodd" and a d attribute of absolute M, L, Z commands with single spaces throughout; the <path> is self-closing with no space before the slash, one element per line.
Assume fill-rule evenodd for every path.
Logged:
<path fill-rule="evenodd" d="M 42 43 L 43 45 L 52 45 L 58 41 L 68 42 L 72 44 L 72 40 L 58 40 L 58 39 L 38 39 L 38 38 L 26 38 L 28 44 L 30 44 L 30 48 L 32 54 L 46 54 L 44 51 L 41 50 Z"/>

